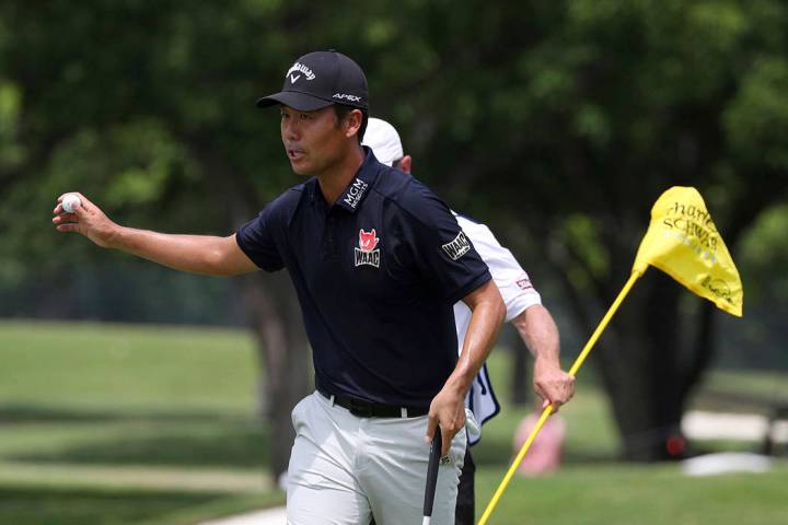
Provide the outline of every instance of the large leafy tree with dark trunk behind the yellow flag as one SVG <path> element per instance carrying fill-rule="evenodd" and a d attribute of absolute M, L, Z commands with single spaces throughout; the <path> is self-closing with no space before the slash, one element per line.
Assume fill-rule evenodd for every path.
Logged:
<path fill-rule="evenodd" d="M 531 2 L 455 19 L 433 55 L 473 44 L 420 92 L 444 117 L 429 122 L 426 171 L 453 159 L 452 203 L 526 224 L 590 334 L 661 191 L 699 187 L 730 246 L 785 199 L 785 22 L 768 1 Z M 714 322 L 658 272 L 627 299 L 595 357 L 625 457 L 670 455 Z"/>

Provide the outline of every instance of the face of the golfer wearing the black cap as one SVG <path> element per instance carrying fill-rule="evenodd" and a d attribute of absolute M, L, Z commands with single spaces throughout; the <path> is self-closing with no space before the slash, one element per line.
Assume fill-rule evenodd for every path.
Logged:
<path fill-rule="evenodd" d="M 281 136 L 293 172 L 320 175 L 341 158 L 347 138 L 332 106 L 299 112 L 281 106 Z"/>

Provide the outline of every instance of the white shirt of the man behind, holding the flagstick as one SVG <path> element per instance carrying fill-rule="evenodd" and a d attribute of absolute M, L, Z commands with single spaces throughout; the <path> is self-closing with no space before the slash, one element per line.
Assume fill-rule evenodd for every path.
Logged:
<path fill-rule="evenodd" d="M 493 280 L 500 291 L 506 304 L 507 323 L 522 314 L 534 304 L 542 304 L 542 298 L 531 284 L 525 270 L 522 269 L 514 256 L 500 245 L 489 228 L 484 224 L 460 215 L 454 212 L 460 228 L 471 238 L 474 248 L 489 267 Z M 471 308 L 462 301 L 454 305 L 454 323 L 457 330 L 457 351 L 462 351 L 468 323 L 471 323 Z M 482 439 L 480 425 L 500 411 L 500 405 L 493 392 L 493 385 L 487 373 L 487 365 L 482 366 L 474 380 L 473 386 L 465 398 L 465 405 L 471 409 L 478 425 L 470 424 L 468 443 L 475 445 Z"/>

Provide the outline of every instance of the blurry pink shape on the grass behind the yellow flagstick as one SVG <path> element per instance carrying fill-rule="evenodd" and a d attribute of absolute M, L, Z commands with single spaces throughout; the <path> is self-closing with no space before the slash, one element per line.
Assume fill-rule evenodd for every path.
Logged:
<path fill-rule="evenodd" d="M 514 455 L 520 452 L 522 445 L 531 435 L 541 415 L 531 413 L 526 416 L 514 432 Z M 560 466 L 561 451 L 564 448 L 564 435 L 566 423 L 558 415 L 547 418 L 536 439 L 531 444 L 528 454 L 518 467 L 521 476 L 540 476 L 549 474 Z"/>

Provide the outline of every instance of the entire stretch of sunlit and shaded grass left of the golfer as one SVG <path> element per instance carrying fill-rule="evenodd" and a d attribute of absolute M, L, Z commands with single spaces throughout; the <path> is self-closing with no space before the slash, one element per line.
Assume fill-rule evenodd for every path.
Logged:
<path fill-rule="evenodd" d="M 0 524 L 189 524 L 281 504 L 246 332 L 0 323 Z"/>

